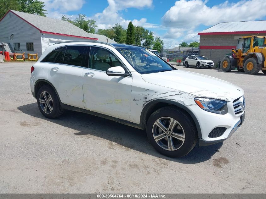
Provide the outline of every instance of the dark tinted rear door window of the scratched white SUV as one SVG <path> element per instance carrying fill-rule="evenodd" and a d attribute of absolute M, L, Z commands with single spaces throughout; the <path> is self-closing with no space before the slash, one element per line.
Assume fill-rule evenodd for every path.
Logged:
<path fill-rule="evenodd" d="M 66 47 L 63 64 L 82 66 L 82 59 L 85 59 L 86 48 L 86 46 Z"/>

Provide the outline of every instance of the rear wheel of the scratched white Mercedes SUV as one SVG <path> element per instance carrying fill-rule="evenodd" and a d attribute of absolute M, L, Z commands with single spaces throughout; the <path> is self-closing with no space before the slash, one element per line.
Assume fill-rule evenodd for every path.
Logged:
<path fill-rule="evenodd" d="M 45 85 L 39 89 L 37 103 L 39 110 L 47 118 L 57 118 L 64 113 L 64 109 L 61 107 L 59 99 L 51 86 Z"/>

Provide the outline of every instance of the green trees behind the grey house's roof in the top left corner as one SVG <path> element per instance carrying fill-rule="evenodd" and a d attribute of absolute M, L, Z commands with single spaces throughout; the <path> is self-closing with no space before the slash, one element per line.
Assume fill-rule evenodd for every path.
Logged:
<path fill-rule="evenodd" d="M 44 3 L 38 0 L 0 0 L 0 19 L 8 10 L 45 16 Z"/>

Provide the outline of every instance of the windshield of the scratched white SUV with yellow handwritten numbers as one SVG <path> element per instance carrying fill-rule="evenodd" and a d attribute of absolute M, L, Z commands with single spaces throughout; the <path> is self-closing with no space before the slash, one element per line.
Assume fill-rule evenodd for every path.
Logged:
<path fill-rule="evenodd" d="M 117 46 L 116 49 L 140 74 L 174 70 L 169 64 L 151 51 L 137 46 Z"/>

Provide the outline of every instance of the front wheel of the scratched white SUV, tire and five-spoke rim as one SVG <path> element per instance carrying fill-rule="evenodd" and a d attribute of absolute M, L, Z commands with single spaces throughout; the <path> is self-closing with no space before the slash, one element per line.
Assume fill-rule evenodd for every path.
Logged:
<path fill-rule="evenodd" d="M 171 119 L 176 121 L 176 123 L 171 123 L 174 124 L 173 129 L 169 128 Z M 159 124 L 157 121 L 160 121 L 160 124 L 165 126 L 160 128 L 157 125 Z M 165 131 L 162 131 L 162 128 Z M 160 136 L 156 141 L 154 136 L 158 135 L 162 137 Z M 177 139 L 174 136 L 179 137 Z M 197 143 L 197 131 L 194 121 L 186 112 L 172 106 L 160 108 L 151 114 L 147 122 L 147 137 L 151 145 L 159 153 L 174 158 L 187 155 Z M 169 140 L 173 144 L 168 145 Z"/>

